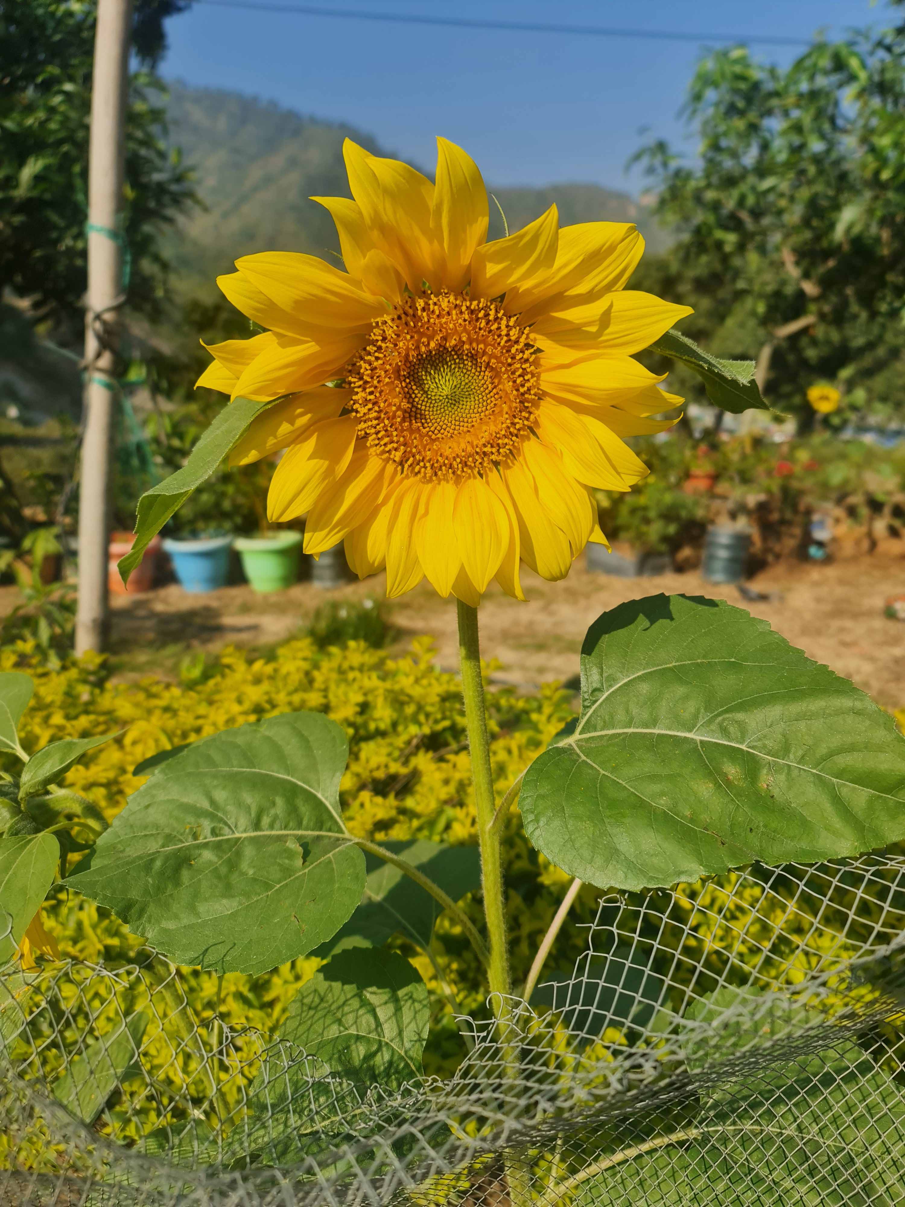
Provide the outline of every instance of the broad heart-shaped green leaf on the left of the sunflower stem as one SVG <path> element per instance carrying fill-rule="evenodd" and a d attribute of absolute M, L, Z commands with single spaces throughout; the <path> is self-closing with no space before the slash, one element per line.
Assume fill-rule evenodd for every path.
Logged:
<path fill-rule="evenodd" d="M 340 727 L 316 712 L 194 742 L 129 798 L 65 882 L 176 963 L 261 973 L 303 956 L 364 888 L 339 805 L 346 756 Z"/>

